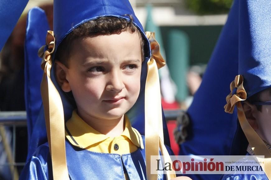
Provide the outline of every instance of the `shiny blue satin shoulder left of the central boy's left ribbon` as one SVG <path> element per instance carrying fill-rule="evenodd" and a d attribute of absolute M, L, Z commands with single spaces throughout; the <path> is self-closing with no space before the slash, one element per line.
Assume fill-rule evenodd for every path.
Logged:
<path fill-rule="evenodd" d="M 40 145 L 28 159 L 20 175 L 20 180 L 47 180 L 50 178 L 51 156 L 48 142 Z"/>

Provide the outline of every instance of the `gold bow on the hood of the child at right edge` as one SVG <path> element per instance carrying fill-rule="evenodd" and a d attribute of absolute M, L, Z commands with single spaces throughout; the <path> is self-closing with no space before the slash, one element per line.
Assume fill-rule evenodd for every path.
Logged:
<path fill-rule="evenodd" d="M 235 104 L 246 99 L 243 81 L 243 76 L 238 75 L 235 77 L 235 80 L 231 82 L 231 93 L 226 97 L 227 104 L 224 106 L 225 112 L 233 113 Z M 236 90 L 236 93 L 233 94 L 233 90 Z"/>

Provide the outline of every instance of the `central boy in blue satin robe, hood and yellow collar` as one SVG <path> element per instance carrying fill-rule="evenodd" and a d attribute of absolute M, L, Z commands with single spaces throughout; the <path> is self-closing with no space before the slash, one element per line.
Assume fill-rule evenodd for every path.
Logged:
<path fill-rule="evenodd" d="M 28 30 L 35 27 L 30 20 Z M 158 155 L 159 145 L 168 156 L 157 86 L 157 66 L 165 63 L 153 35 L 147 36 L 128 0 L 54 1 L 54 32 L 40 51 L 48 143 L 30 157 L 21 179 L 157 179 L 150 155 Z M 129 118 L 146 119 L 145 136 Z"/>

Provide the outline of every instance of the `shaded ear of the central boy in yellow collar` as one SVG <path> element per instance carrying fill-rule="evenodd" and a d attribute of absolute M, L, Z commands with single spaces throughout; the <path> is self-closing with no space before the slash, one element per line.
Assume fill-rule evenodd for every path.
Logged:
<path fill-rule="evenodd" d="M 68 68 L 59 61 L 55 61 L 55 74 L 58 84 L 64 92 L 70 92 L 71 87 L 66 79 Z"/>

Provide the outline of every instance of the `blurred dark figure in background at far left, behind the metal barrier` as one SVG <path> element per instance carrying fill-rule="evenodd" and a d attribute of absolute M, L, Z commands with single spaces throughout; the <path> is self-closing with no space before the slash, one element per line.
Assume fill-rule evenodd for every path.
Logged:
<path fill-rule="evenodd" d="M 24 111 L 24 39 L 26 16 L 22 16 L 1 53 L 0 110 Z"/>

